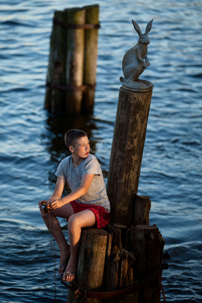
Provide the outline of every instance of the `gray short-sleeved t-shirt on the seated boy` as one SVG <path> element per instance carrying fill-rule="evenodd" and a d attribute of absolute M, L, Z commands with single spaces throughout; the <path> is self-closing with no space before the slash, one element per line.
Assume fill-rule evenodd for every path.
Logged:
<path fill-rule="evenodd" d="M 74 191 L 81 185 L 81 179 L 85 174 L 94 174 L 94 177 L 87 193 L 76 199 L 76 201 L 84 204 L 100 205 L 110 212 L 110 204 L 102 170 L 94 155 L 88 154 L 88 157 L 84 158 L 75 168 L 73 167 L 72 156 L 69 156 L 60 162 L 55 173 L 57 177 L 66 179 L 71 191 Z"/>

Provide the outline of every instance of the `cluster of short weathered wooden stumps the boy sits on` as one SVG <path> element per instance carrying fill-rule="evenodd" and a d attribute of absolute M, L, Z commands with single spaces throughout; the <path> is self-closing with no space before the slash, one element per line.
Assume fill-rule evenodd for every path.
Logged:
<path fill-rule="evenodd" d="M 139 201 L 149 200 L 145 196 Z M 150 200 L 149 200 L 150 201 Z M 127 228 L 110 223 L 107 231 L 84 228 L 75 283 L 87 291 L 117 291 L 151 278 L 163 260 L 165 240 L 156 226 L 149 225 L 150 204 L 144 204 L 139 222 Z M 145 215 L 146 214 L 146 215 Z M 135 221 L 135 220 L 134 220 Z M 74 282 L 71 282 L 72 285 Z M 161 276 L 142 290 L 117 298 L 89 299 L 89 303 L 159 303 Z M 81 303 L 68 291 L 67 303 Z"/>

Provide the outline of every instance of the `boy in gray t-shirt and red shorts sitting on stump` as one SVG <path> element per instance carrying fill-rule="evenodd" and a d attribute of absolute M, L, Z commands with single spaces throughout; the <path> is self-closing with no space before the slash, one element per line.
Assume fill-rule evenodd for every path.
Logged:
<path fill-rule="evenodd" d="M 55 173 L 58 179 L 53 194 L 38 204 L 47 227 L 52 215 L 49 230 L 60 249 L 58 271 L 63 281 L 71 281 L 76 275 L 81 228 L 94 224 L 98 228 L 106 226 L 110 221 L 110 204 L 100 164 L 94 155 L 89 154 L 90 145 L 86 133 L 71 129 L 65 134 L 65 143 L 71 156 L 63 159 L 58 166 Z M 61 198 L 66 181 L 71 193 Z M 41 208 L 44 203 L 51 209 L 46 214 Z M 68 221 L 70 245 L 65 240 L 57 217 Z"/>

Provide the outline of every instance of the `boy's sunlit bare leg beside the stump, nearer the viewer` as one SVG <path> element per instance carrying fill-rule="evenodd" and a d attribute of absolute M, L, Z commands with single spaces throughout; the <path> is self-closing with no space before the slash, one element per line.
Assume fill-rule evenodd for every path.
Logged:
<path fill-rule="evenodd" d="M 71 215 L 68 219 L 69 241 L 71 246 L 71 256 L 67 268 L 62 276 L 63 281 L 71 281 L 76 274 L 68 274 L 76 271 L 78 263 L 78 251 L 81 241 L 81 228 L 89 227 L 95 224 L 94 213 L 87 209 L 77 214 Z"/>

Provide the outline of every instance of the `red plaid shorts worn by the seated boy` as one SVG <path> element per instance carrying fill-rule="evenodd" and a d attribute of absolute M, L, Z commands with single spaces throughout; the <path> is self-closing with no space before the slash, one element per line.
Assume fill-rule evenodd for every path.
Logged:
<path fill-rule="evenodd" d="M 71 201 L 69 203 L 71 204 L 71 207 L 73 208 L 75 214 L 86 209 L 91 210 L 95 215 L 98 228 L 104 228 L 106 225 L 108 225 L 111 219 L 111 216 L 108 211 L 106 211 L 106 209 L 102 206 L 78 203 L 76 200 Z"/>

